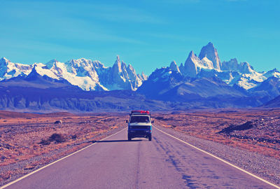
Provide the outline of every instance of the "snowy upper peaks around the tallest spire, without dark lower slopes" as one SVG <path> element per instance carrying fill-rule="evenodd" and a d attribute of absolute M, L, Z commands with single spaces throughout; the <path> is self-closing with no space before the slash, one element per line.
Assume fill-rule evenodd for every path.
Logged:
<path fill-rule="evenodd" d="M 280 78 L 280 72 L 276 69 L 258 72 L 248 62 L 239 63 L 236 58 L 221 62 L 213 43 L 205 45 L 198 57 L 192 50 L 185 64 L 177 66 L 173 61 L 167 69 L 192 78 L 218 77 L 230 86 L 237 85 L 245 90 L 258 87 L 269 77 Z"/>

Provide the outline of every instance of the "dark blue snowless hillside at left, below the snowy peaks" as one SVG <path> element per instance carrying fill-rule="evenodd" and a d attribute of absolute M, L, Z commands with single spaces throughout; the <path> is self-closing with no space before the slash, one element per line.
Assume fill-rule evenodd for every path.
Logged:
<path fill-rule="evenodd" d="M 0 109 L 23 112 L 121 111 L 169 109 L 132 90 L 85 91 L 68 81 L 41 76 L 33 70 L 0 82 Z"/>

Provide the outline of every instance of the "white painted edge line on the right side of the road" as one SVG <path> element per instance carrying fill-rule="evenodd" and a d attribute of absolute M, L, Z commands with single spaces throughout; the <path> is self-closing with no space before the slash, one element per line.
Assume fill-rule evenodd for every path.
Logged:
<path fill-rule="evenodd" d="M 153 127 L 155 127 L 155 126 L 153 125 Z M 183 141 L 183 140 L 181 140 L 181 139 L 178 139 L 177 137 L 174 137 L 173 135 L 168 134 L 167 132 L 164 132 L 164 131 L 158 129 L 158 127 L 155 127 L 155 129 L 156 129 L 156 130 L 159 130 L 160 132 L 163 132 L 164 134 L 167 134 L 169 137 L 173 137 L 174 139 L 177 139 L 177 140 L 183 142 L 184 144 L 188 144 L 188 142 Z M 223 160 L 223 159 L 221 159 L 221 158 L 218 158 L 216 155 L 213 155 L 213 154 L 211 154 L 211 153 L 208 153 L 207 151 L 204 151 L 204 150 L 202 150 L 202 149 L 200 149 L 200 148 L 197 148 L 196 146 L 193 146 L 193 145 L 191 145 L 191 144 L 188 144 L 188 146 L 191 146 L 191 147 L 197 149 L 198 151 L 202 151 L 203 153 L 206 153 L 206 154 L 208 154 L 208 155 L 211 155 L 213 158 L 216 158 L 217 160 L 220 160 L 220 161 L 222 161 L 222 162 L 225 162 L 226 164 L 228 164 L 228 165 L 230 165 L 230 166 L 232 166 L 232 167 L 235 167 L 236 169 L 239 169 L 241 172 L 244 172 L 244 173 L 246 173 L 246 174 L 248 174 L 248 175 L 253 176 L 255 179 L 259 179 L 260 181 L 262 181 L 262 182 L 264 182 L 264 183 L 267 183 L 267 184 L 269 184 L 270 186 L 273 186 L 273 187 L 275 187 L 275 188 L 280 189 L 279 186 L 276 186 L 275 184 L 270 183 L 269 181 L 266 181 L 265 179 L 262 179 L 262 178 L 260 178 L 259 176 L 256 176 L 255 174 L 251 174 L 250 172 L 247 172 L 247 171 L 245 171 L 244 169 L 241 169 L 240 167 L 237 167 L 236 165 L 232 165 L 230 162 L 227 162 L 227 161 L 225 161 L 225 160 Z"/>

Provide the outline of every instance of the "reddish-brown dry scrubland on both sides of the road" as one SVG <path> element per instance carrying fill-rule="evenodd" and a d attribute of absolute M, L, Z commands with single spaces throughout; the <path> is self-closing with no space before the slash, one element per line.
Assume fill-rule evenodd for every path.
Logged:
<path fill-rule="evenodd" d="M 152 117 L 155 125 L 280 160 L 279 109 L 157 112 Z M 0 186 L 113 134 L 127 118 L 127 113 L 0 111 Z"/>

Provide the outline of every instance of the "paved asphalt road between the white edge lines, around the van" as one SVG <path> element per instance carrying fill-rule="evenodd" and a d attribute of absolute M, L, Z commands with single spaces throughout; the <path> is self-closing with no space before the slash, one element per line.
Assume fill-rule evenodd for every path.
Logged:
<path fill-rule="evenodd" d="M 127 141 L 127 130 L 7 188 L 274 188 L 153 129 Z"/>

